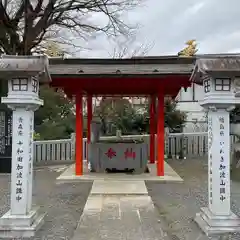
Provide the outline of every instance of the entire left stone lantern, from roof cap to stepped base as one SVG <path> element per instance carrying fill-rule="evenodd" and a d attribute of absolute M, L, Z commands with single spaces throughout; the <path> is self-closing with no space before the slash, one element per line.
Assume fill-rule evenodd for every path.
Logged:
<path fill-rule="evenodd" d="M 44 215 L 32 207 L 34 111 L 43 105 L 39 82 L 49 82 L 45 56 L 3 56 L 1 79 L 8 81 L 2 103 L 12 110 L 11 206 L 0 218 L 0 237 L 32 237 Z"/>

